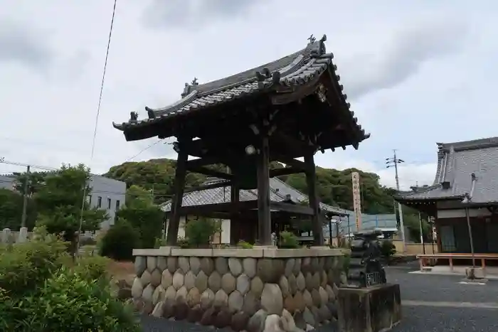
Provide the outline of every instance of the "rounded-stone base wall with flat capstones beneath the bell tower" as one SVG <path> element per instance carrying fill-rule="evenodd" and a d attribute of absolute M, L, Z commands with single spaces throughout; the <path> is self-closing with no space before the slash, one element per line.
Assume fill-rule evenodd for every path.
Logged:
<path fill-rule="evenodd" d="M 337 317 L 339 249 L 134 250 L 134 304 L 145 314 L 235 331 L 319 326 Z"/>

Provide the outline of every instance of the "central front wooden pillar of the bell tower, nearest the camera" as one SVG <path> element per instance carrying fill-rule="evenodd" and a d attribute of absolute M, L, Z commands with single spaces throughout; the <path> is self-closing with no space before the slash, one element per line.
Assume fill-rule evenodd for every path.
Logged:
<path fill-rule="evenodd" d="M 258 170 L 258 241 L 260 245 L 272 245 L 272 220 L 270 213 L 270 149 L 268 136 L 263 135 L 257 155 Z"/>

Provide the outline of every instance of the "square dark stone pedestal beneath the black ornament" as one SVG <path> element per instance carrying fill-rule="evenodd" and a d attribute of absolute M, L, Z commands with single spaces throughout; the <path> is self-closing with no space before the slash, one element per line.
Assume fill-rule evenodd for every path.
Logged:
<path fill-rule="evenodd" d="M 341 332 L 389 331 L 401 321 L 399 285 L 340 288 L 338 309 Z"/>

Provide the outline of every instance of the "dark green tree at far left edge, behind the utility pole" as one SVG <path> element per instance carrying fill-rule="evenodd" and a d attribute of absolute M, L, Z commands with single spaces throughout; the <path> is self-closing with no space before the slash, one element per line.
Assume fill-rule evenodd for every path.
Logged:
<path fill-rule="evenodd" d="M 36 208 L 33 200 L 28 198 L 26 207 L 26 227 L 33 229 L 36 220 Z M 23 214 L 23 196 L 16 191 L 0 189 L 0 230 L 10 228 L 18 230 L 21 227 Z"/>

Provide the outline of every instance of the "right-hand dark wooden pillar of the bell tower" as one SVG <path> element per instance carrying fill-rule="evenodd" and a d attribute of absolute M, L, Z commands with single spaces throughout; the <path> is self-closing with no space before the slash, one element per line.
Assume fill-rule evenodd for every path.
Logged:
<path fill-rule="evenodd" d="M 313 245 L 324 245 L 324 234 L 322 227 L 322 218 L 319 215 L 319 199 L 317 195 L 317 174 L 314 166 L 313 154 L 304 156 L 306 164 L 306 182 L 308 186 L 309 207 L 313 209 L 312 215 L 312 230 L 313 230 Z M 331 239 L 332 240 L 332 239 Z"/>

